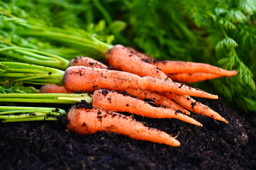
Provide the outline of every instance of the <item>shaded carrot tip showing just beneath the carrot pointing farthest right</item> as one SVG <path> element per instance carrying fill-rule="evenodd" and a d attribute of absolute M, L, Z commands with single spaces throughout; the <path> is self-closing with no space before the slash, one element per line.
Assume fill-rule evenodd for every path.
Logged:
<path fill-rule="evenodd" d="M 199 81 L 206 81 L 209 79 L 217 79 L 223 77 L 220 74 L 211 74 L 211 73 L 177 73 L 177 74 L 168 74 L 168 76 L 173 81 L 183 82 L 183 83 L 196 83 Z"/>

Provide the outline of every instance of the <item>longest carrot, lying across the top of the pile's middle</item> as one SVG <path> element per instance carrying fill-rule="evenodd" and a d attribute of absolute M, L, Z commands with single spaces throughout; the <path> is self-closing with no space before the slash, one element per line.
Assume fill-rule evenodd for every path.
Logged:
<path fill-rule="evenodd" d="M 157 92 L 171 91 L 175 94 L 217 99 L 218 96 L 199 91 L 174 81 L 138 75 L 116 70 L 94 69 L 74 66 L 65 71 L 63 84 L 67 91 L 95 91 L 96 89 L 147 89 Z"/>

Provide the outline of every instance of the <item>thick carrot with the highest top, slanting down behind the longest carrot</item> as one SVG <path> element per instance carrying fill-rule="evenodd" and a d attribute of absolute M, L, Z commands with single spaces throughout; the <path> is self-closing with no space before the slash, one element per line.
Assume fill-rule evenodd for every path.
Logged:
<path fill-rule="evenodd" d="M 126 47 L 123 47 L 123 45 L 115 45 L 111 50 L 108 50 L 106 61 L 114 69 L 137 74 L 140 77 L 150 76 L 169 79 L 160 69 L 143 61 L 140 57 L 134 55 L 133 52 L 127 50 Z"/>

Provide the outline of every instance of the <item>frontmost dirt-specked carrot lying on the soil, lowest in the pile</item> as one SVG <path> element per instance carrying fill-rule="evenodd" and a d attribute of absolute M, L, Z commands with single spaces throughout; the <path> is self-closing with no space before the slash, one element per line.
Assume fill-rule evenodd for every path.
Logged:
<path fill-rule="evenodd" d="M 179 147 L 174 137 L 155 128 L 148 128 L 132 118 L 100 108 L 71 108 L 67 113 L 67 128 L 79 135 L 94 134 L 97 131 L 115 132 L 135 140 L 146 140 Z"/>

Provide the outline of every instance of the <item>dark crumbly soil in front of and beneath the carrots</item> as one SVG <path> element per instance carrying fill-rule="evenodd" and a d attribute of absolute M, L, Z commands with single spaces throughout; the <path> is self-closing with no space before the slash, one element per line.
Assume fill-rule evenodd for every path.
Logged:
<path fill-rule="evenodd" d="M 195 114 L 203 128 L 135 116 L 178 135 L 180 147 L 106 132 L 79 136 L 61 122 L 0 124 L 0 169 L 256 169 L 256 114 L 233 111 L 221 100 L 199 101 L 229 124 Z"/>

